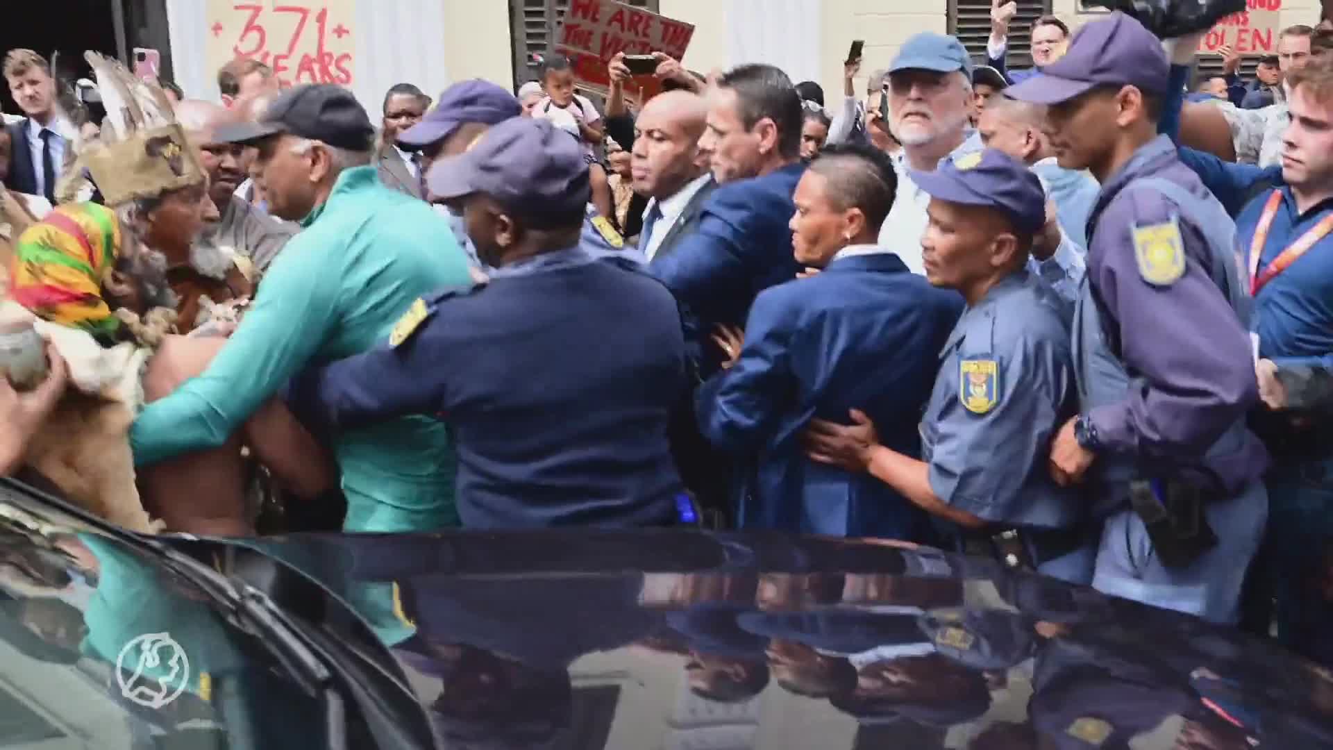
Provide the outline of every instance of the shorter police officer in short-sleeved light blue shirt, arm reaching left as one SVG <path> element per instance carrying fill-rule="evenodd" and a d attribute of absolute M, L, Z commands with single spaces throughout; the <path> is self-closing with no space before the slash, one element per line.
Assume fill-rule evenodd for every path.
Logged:
<path fill-rule="evenodd" d="M 960 548 L 1088 583 L 1094 535 L 1042 460 L 1076 394 L 1064 304 L 1026 270 L 1045 223 L 1041 181 L 993 148 L 912 179 L 932 198 L 926 278 L 968 302 L 940 354 L 922 460 L 877 444 L 864 419 L 814 422 L 812 456 L 869 471 L 934 514 Z"/>

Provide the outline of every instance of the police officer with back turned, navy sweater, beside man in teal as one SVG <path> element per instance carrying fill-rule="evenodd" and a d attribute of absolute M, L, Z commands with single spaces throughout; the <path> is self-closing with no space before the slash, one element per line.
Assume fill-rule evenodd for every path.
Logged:
<path fill-rule="evenodd" d="M 680 311 L 636 264 L 580 243 L 577 143 L 505 120 L 436 161 L 428 183 L 461 202 L 489 282 L 417 300 L 389 346 L 305 372 L 297 410 L 341 428 L 439 415 L 457 442 L 467 527 L 673 523 Z"/>

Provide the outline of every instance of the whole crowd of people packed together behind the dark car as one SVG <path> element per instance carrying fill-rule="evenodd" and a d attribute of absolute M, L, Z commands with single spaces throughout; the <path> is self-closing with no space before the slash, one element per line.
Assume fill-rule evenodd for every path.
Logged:
<path fill-rule="evenodd" d="M 599 109 L 551 56 L 379 125 L 237 60 L 221 103 L 99 69 L 99 133 L 16 49 L 7 295 L 152 350 L 128 440 L 169 531 L 263 531 L 259 464 L 287 531 L 882 536 L 1333 662 L 1333 35 L 1202 101 L 1198 35 L 1042 17 L 1009 71 L 1013 17 L 828 104 L 657 53 Z M 59 348 L 0 384 L 5 471 L 85 390 Z"/>

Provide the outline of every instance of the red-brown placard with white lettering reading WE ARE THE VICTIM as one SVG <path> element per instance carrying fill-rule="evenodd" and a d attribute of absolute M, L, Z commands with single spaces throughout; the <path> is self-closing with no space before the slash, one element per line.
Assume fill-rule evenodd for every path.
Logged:
<path fill-rule="evenodd" d="M 569 57 L 575 77 L 584 88 L 604 92 L 611 84 L 607 65 L 617 52 L 665 52 L 681 60 L 693 35 L 693 24 L 615 0 L 569 0 L 556 28 L 556 51 Z M 645 99 L 660 85 L 653 76 L 636 76 L 633 81 L 644 89 Z"/>

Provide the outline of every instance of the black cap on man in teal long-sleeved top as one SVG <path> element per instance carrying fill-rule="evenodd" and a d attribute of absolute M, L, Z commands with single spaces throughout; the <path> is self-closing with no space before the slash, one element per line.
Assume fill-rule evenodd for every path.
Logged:
<path fill-rule="evenodd" d="M 252 144 L 291 133 L 348 151 L 368 151 L 375 125 L 352 92 L 332 84 L 299 85 L 283 92 L 255 123 L 217 128 L 219 143 Z"/>

